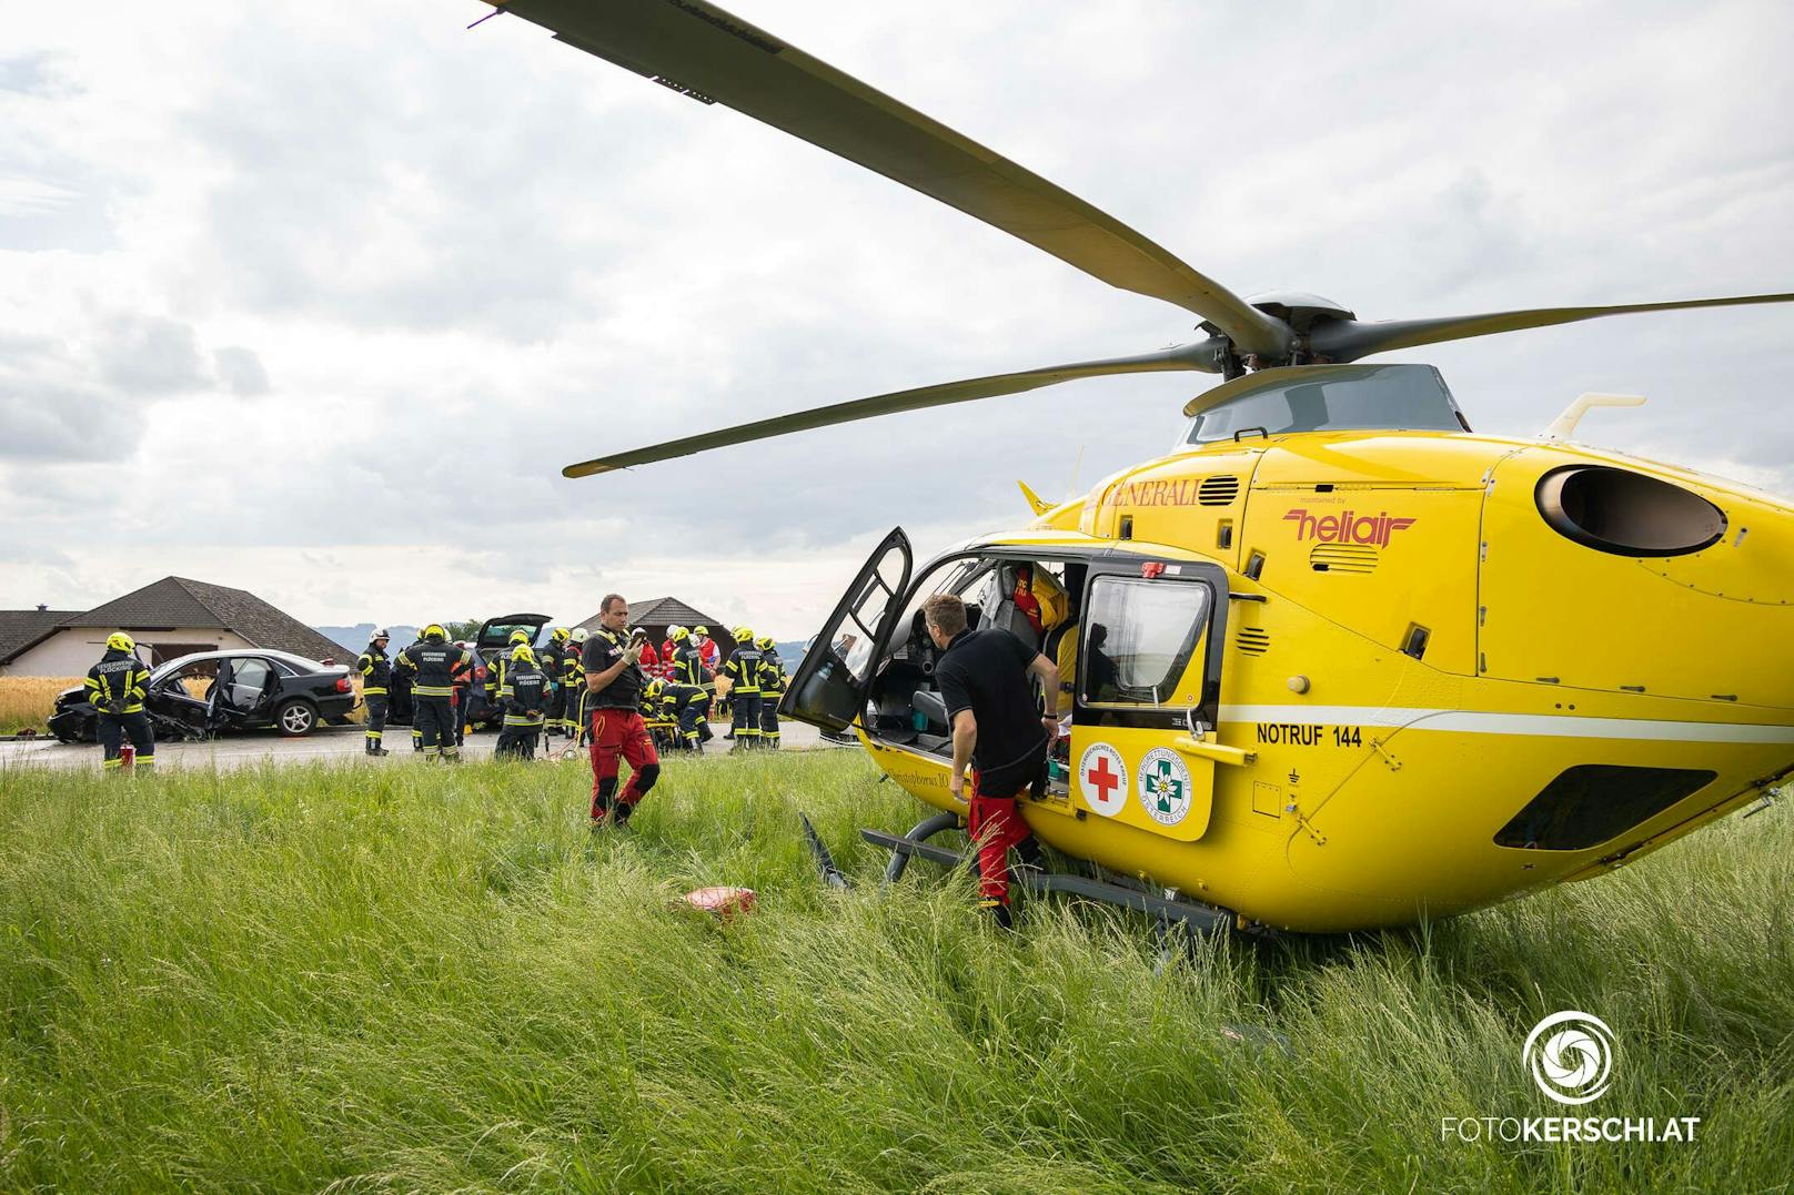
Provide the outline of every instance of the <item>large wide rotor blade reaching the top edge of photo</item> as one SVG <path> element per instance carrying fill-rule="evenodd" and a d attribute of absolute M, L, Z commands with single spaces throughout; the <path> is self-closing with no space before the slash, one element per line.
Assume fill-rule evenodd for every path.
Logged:
<path fill-rule="evenodd" d="M 705 104 L 721 102 L 994 224 L 1123 291 L 1191 310 L 1241 353 L 1292 332 L 1039 174 L 705 0 L 486 0 L 560 41 Z"/>

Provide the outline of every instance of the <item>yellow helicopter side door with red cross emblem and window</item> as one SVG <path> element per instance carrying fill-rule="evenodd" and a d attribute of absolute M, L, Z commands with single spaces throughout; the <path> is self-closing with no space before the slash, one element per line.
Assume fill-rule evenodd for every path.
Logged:
<path fill-rule="evenodd" d="M 1211 563 L 1116 556 L 1084 585 L 1071 718 L 1082 811 L 1177 842 L 1209 829 L 1227 574 Z"/>

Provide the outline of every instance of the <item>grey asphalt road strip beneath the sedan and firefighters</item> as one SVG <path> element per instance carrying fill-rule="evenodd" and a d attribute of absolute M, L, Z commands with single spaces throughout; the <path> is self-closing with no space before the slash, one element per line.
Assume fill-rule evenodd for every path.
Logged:
<path fill-rule="evenodd" d="M 718 730 L 718 736 L 721 736 L 721 728 Z M 391 755 L 386 755 L 384 759 L 366 755 L 362 748 L 366 734 L 361 727 L 319 727 L 303 739 L 289 739 L 274 734 L 273 730 L 253 730 L 228 734 L 226 737 L 212 739 L 208 743 L 156 743 L 156 766 L 183 770 L 215 768 L 219 772 L 230 772 L 231 768 L 255 766 L 262 763 L 285 764 L 312 761 L 361 761 L 370 768 L 400 768 L 422 763 L 422 755 L 411 750 L 409 727 L 393 727 L 386 732 L 386 748 Z M 492 755 L 492 748 L 497 741 L 499 736 L 490 732 L 468 736 L 466 746 L 461 748 L 461 754 L 468 759 L 484 759 Z M 780 741 L 788 750 L 834 746 L 825 741 L 814 727 L 800 721 L 784 723 Z M 554 745 L 554 750 L 560 750 L 565 745 L 565 739 L 551 739 L 551 743 Z M 709 750 L 718 754 L 728 750 L 728 743 L 718 737 L 710 743 Z M 57 743 L 56 739 L 18 739 L 0 743 L 0 772 L 22 766 L 99 770 L 100 748 L 91 743 L 72 745 Z"/>

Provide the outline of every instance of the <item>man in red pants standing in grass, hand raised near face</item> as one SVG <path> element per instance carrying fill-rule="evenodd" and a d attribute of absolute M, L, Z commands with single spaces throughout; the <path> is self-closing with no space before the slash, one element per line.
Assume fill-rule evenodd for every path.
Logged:
<path fill-rule="evenodd" d="M 597 633 L 587 644 L 587 705 L 592 718 L 592 829 L 623 827 L 635 806 L 660 779 L 660 755 L 642 723 L 640 644 L 626 639 L 630 603 L 623 594 L 605 594 Z M 619 764 L 630 764 L 630 782 L 619 793 Z"/>

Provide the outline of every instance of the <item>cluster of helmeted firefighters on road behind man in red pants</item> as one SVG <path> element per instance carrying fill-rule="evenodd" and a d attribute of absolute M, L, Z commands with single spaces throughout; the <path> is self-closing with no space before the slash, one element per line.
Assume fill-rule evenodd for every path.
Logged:
<path fill-rule="evenodd" d="M 355 662 L 368 705 L 366 752 L 388 754 L 382 739 L 398 673 L 411 680 L 411 746 L 431 759 L 459 759 L 475 693 L 502 714 L 495 750 L 501 757 L 533 759 L 536 743 L 551 736 L 585 743 L 592 732 L 587 655 L 594 641 L 606 648 L 639 648 L 633 664 L 640 673 L 637 707 L 666 748 L 701 754 L 716 737 L 710 711 L 718 700 L 730 716 L 725 737 L 734 739 L 732 750 L 777 748 L 784 664 L 770 635 L 755 637 L 750 628 L 737 626 L 734 637 L 737 646 L 723 662 L 707 626 L 669 626 L 658 651 L 644 632 L 631 628 L 556 626 L 540 650 L 533 635 L 518 628 L 502 650 L 484 659 L 466 644 L 450 642 L 440 623 L 425 626 L 418 641 L 396 655 L 386 651 L 389 633 L 377 630 Z"/>

